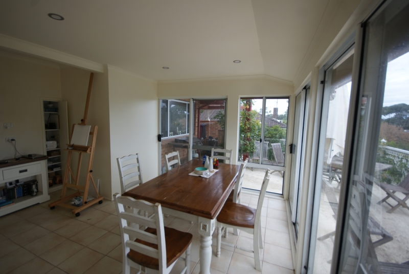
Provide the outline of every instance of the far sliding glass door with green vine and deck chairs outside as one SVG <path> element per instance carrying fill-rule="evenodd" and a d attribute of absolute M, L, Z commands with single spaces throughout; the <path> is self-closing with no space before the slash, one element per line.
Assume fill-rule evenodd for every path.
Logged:
<path fill-rule="evenodd" d="M 265 169 L 273 170 L 267 191 L 283 193 L 288 97 L 241 98 L 238 161 L 248 158 L 243 187 L 260 190 Z M 264 171 L 263 171 L 264 170 Z"/>

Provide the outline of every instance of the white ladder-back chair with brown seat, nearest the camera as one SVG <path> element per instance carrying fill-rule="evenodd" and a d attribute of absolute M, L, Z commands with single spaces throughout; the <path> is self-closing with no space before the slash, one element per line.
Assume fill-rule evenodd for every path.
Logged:
<path fill-rule="evenodd" d="M 131 197 L 113 195 L 117 208 L 119 227 L 122 237 L 122 273 L 129 274 L 130 267 L 147 270 L 155 273 L 168 274 L 176 261 L 185 261 L 185 267 L 180 274 L 190 272 L 190 246 L 193 235 L 181 232 L 163 223 L 162 208 L 160 203 L 150 203 L 144 200 L 135 200 Z M 155 218 L 126 212 L 125 208 L 134 208 L 142 211 L 153 211 Z M 137 223 L 146 226 L 142 231 L 128 226 L 127 223 Z M 130 238 L 135 238 L 134 241 Z M 186 253 L 186 259 L 181 255 Z M 145 268 L 145 269 L 143 269 Z M 150 273 L 150 272 L 149 272 Z"/>

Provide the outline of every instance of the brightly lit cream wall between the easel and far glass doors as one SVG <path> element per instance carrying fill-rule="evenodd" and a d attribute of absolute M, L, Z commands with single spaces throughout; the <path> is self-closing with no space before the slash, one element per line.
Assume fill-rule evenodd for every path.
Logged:
<path fill-rule="evenodd" d="M 139 153 L 143 180 L 158 175 L 157 83 L 108 66 L 112 193 L 120 193 L 117 158 Z"/>

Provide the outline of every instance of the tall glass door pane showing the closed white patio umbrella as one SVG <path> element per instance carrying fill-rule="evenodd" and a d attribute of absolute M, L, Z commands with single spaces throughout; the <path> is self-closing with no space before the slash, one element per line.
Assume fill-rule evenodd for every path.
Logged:
<path fill-rule="evenodd" d="M 342 168 L 354 50 L 344 53 L 325 71 L 321 140 L 317 163 L 315 207 L 311 245 L 314 250 L 313 273 L 330 273 L 334 247 L 339 189 L 344 183 Z"/>

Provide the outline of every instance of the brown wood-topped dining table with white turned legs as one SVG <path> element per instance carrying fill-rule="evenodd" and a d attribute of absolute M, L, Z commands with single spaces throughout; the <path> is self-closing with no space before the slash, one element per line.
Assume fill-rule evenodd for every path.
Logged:
<path fill-rule="evenodd" d="M 216 217 L 234 188 L 240 166 L 219 163 L 209 178 L 189 175 L 202 166 L 202 161 L 188 161 L 123 195 L 158 202 L 164 214 L 196 222 L 200 234 L 200 273 L 210 274 Z"/>

